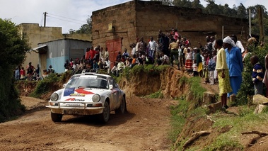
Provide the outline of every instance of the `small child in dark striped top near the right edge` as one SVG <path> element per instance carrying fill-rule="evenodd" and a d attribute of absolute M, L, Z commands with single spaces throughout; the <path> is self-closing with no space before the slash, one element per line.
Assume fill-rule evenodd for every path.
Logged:
<path fill-rule="evenodd" d="M 262 72 L 262 66 L 259 62 L 259 57 L 257 57 L 257 55 L 253 55 L 252 57 L 250 57 L 250 62 L 253 65 L 252 82 L 254 84 L 255 95 L 262 95 L 262 79 L 264 77 L 264 74 Z"/>

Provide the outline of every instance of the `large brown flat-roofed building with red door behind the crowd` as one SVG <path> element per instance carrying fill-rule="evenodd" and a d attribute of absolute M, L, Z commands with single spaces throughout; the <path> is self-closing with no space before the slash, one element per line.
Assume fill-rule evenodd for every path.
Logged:
<path fill-rule="evenodd" d="M 238 40 L 246 41 L 248 21 L 242 18 L 202 13 L 202 9 L 165 6 L 161 1 L 129 1 L 93 11 L 93 45 L 107 47 L 110 60 L 115 61 L 118 51 L 127 50 L 136 38 L 143 37 L 146 43 L 150 36 L 158 38 L 159 30 L 175 28 L 179 34 L 190 39 L 192 47 L 198 42 L 206 44 L 206 36 L 235 34 Z"/>

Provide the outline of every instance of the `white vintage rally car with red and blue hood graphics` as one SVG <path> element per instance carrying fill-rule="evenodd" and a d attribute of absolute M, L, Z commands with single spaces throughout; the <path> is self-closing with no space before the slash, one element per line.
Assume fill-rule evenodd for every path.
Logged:
<path fill-rule="evenodd" d="M 62 121 L 65 115 L 95 115 L 106 123 L 110 111 L 127 111 L 124 91 L 110 75 L 83 73 L 73 75 L 64 84 L 64 89 L 55 91 L 49 100 L 51 118 L 54 122 Z"/>

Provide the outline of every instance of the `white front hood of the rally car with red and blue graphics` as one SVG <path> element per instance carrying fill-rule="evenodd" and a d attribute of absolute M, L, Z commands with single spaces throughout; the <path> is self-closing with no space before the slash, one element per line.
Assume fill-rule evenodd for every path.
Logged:
<path fill-rule="evenodd" d="M 62 93 L 62 101 L 91 101 L 95 94 L 103 94 L 104 89 L 66 88 Z"/>

